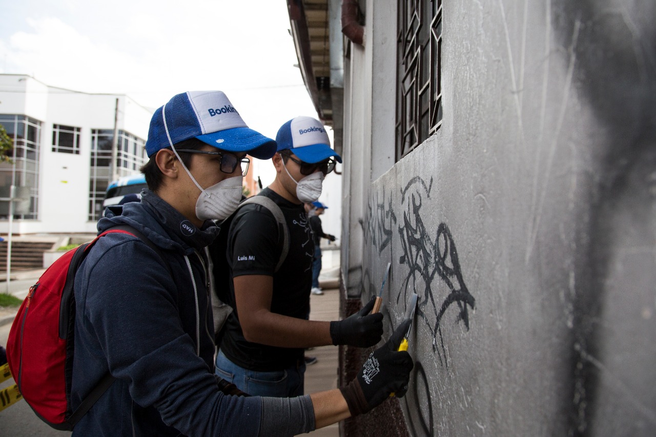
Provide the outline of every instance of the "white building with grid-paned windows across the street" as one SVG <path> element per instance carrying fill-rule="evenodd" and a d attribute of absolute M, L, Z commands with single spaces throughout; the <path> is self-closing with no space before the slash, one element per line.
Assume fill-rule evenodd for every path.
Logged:
<path fill-rule="evenodd" d="M 138 173 L 154 110 L 123 94 L 88 94 L 50 87 L 28 75 L 0 74 L 0 124 L 14 140 L 12 163 L 0 163 L 0 197 L 28 187 L 14 234 L 96 231 L 104 192 L 115 175 Z M 9 232 L 7 202 L 0 233 Z"/>

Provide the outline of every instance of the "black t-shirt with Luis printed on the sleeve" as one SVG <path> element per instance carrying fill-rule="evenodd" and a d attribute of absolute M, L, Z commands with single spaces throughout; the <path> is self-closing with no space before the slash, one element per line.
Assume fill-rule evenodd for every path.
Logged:
<path fill-rule="evenodd" d="M 237 211 L 228 231 L 228 264 L 232 277 L 267 275 L 274 278 L 271 311 L 305 319 L 310 312 L 314 242 L 303 205 L 295 205 L 264 188 L 258 196 L 280 207 L 289 228 L 289 253 L 275 272 L 282 251 L 276 218 L 262 205 L 245 205 Z M 230 283 L 231 293 L 234 285 Z M 279 348 L 246 341 L 237 310 L 226 321 L 221 350 L 235 364 L 255 371 L 281 370 L 303 357 L 302 348 Z"/>

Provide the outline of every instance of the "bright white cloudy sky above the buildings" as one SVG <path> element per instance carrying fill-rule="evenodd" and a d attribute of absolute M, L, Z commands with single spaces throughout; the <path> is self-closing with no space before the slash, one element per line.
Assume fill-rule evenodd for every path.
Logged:
<path fill-rule="evenodd" d="M 0 73 L 127 94 L 153 109 L 218 89 L 272 138 L 297 115 L 318 117 L 295 66 L 285 0 L 0 0 L 0 11 Z M 257 165 L 265 185 L 275 175 L 268 166 Z"/>

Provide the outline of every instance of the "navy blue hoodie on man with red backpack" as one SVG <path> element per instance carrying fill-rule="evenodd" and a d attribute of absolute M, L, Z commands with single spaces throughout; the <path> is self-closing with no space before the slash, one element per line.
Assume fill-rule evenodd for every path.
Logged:
<path fill-rule="evenodd" d="M 81 265 L 75 278 L 73 407 L 108 371 L 116 380 L 73 436 L 257 435 L 262 398 L 226 396 L 213 376 L 214 330 L 202 254 L 218 228 L 211 222 L 196 228 L 148 190 L 141 203 L 120 211 L 102 218 L 98 231 L 129 224 L 167 260 L 138 238 L 109 234 Z"/>

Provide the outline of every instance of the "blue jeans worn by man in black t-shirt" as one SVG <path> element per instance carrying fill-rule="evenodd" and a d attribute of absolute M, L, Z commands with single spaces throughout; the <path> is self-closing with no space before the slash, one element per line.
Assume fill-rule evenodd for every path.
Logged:
<path fill-rule="evenodd" d="M 216 355 L 215 373 L 233 383 L 243 392 L 253 396 L 294 398 L 302 396 L 304 390 L 305 362 L 285 370 L 259 372 L 239 367 L 219 349 Z"/>

